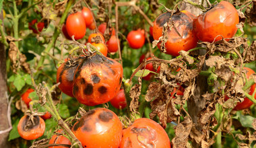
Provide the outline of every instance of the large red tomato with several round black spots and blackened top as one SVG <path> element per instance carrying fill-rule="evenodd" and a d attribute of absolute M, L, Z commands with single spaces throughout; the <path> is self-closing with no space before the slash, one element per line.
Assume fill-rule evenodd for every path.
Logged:
<path fill-rule="evenodd" d="M 75 70 L 73 95 L 87 106 L 104 104 L 117 95 L 122 79 L 123 67 L 117 61 L 100 54 L 84 57 Z"/>

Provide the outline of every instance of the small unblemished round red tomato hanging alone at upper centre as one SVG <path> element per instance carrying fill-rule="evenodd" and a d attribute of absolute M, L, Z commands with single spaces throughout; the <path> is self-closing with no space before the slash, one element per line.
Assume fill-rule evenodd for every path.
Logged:
<path fill-rule="evenodd" d="M 145 43 L 144 30 L 133 30 L 127 35 L 129 46 L 133 49 L 141 48 Z"/>

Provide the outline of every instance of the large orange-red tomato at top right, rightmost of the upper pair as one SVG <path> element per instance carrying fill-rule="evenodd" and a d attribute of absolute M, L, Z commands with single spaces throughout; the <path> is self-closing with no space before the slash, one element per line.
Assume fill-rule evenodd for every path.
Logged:
<path fill-rule="evenodd" d="M 236 8 L 228 1 L 221 1 L 212 9 L 199 15 L 193 26 L 199 40 L 214 42 L 214 38 L 218 35 L 232 38 L 236 34 L 238 23 Z M 221 40 L 222 36 L 218 36 L 215 41 Z"/>

